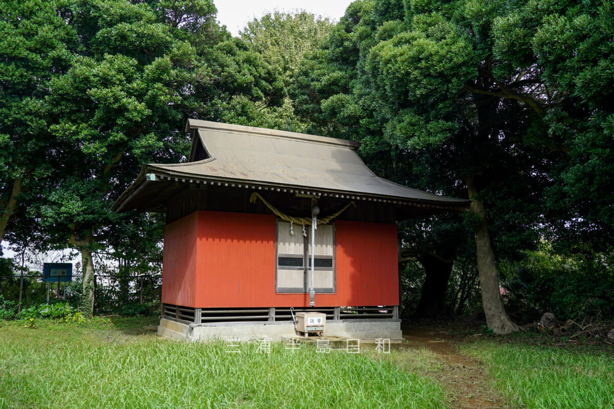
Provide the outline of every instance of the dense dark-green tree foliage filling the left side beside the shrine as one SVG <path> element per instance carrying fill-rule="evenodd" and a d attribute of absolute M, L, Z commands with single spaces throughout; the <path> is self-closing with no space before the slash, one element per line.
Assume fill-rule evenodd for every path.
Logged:
<path fill-rule="evenodd" d="M 91 296 L 94 253 L 134 257 L 123 242 L 130 223 L 151 225 L 142 250 L 159 256 L 161 220 L 111 212 L 139 165 L 185 158 L 186 118 L 232 117 L 238 100 L 278 105 L 283 83 L 217 26 L 210 0 L 3 1 L 2 10 L 2 235 L 18 216 L 15 244 L 80 250 Z"/>

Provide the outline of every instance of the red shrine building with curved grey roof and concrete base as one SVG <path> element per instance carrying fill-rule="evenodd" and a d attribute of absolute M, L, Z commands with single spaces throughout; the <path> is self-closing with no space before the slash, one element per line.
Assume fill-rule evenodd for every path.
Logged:
<path fill-rule="evenodd" d="M 402 338 L 395 222 L 467 210 L 378 177 L 349 140 L 188 120 L 188 161 L 147 164 L 115 212 L 166 213 L 162 313 L 172 338 L 325 333 Z M 315 223 L 314 223 L 315 221 Z"/>

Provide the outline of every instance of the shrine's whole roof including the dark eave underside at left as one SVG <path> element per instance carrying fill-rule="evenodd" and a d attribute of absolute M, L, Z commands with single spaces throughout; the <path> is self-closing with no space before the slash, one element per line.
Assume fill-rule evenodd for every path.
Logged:
<path fill-rule="evenodd" d="M 190 161 L 144 165 L 113 205 L 116 212 L 147 210 L 146 202 L 157 190 L 150 185 L 156 183 L 150 182 L 150 174 L 155 175 L 153 180 L 202 180 L 231 186 L 253 183 L 278 191 L 311 189 L 315 194 L 357 195 L 365 200 L 439 205 L 449 210 L 465 210 L 470 202 L 378 177 L 358 156 L 359 144 L 349 140 L 200 120 L 188 120 L 186 131 L 194 132 Z"/>

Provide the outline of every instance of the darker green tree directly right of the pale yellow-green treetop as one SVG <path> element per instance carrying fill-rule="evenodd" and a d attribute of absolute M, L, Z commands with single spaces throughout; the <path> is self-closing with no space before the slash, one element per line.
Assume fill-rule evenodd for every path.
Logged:
<path fill-rule="evenodd" d="M 376 148 L 378 143 L 370 141 L 381 134 L 384 118 L 369 104 L 376 101 L 368 101 L 358 74 L 362 40 L 372 35 L 375 26 L 373 8 L 365 1 L 349 5 L 321 47 L 301 62 L 289 94 L 297 114 L 313 124 L 308 132 L 332 137 L 347 134 Z M 372 132 L 376 137 L 370 139 Z"/>

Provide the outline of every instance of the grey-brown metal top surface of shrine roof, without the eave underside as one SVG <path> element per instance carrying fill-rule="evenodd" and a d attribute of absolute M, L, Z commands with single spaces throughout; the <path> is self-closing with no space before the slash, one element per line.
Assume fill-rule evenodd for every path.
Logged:
<path fill-rule="evenodd" d="M 356 153 L 355 142 L 209 121 L 190 120 L 188 128 L 196 130 L 195 137 L 211 157 L 181 164 L 149 164 L 149 167 L 191 178 L 212 177 L 399 199 L 467 202 L 378 177 Z"/>

